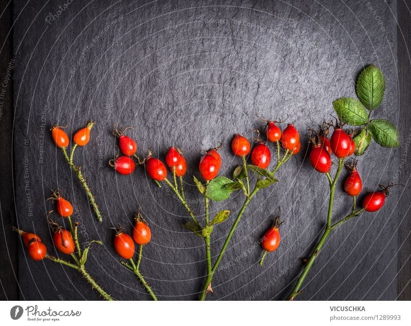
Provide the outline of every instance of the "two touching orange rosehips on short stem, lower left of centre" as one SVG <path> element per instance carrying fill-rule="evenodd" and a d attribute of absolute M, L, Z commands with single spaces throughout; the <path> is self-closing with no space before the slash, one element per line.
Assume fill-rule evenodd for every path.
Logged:
<path fill-rule="evenodd" d="M 138 245 L 145 245 L 151 240 L 151 230 L 148 224 L 141 218 L 140 214 L 136 214 L 136 224 L 133 229 L 133 238 L 127 233 L 123 232 L 120 227 L 116 230 L 116 236 L 114 237 L 114 248 L 119 256 L 124 259 L 133 258 L 135 252 L 135 245 L 133 240 Z"/>

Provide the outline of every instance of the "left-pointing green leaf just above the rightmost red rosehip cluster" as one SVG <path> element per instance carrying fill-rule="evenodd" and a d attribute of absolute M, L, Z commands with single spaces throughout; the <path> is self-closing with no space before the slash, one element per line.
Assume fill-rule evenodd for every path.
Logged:
<path fill-rule="evenodd" d="M 357 99 L 343 97 L 332 102 L 335 112 L 340 119 L 351 125 L 363 125 L 368 121 L 364 105 Z"/>

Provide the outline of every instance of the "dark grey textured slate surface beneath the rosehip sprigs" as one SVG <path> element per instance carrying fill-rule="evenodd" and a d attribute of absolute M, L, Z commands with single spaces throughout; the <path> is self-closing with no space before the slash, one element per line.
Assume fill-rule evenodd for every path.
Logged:
<path fill-rule="evenodd" d="M 111 246 L 111 226 L 132 227 L 142 207 L 153 229 L 141 268 L 159 298 L 191 300 L 205 273 L 199 238 L 180 224 L 187 214 L 166 189 L 157 189 L 144 171 L 116 175 L 107 166 L 116 154 L 110 132 L 117 121 L 132 125 L 139 154 L 150 148 L 164 157 L 170 145 L 182 148 L 191 166 L 199 149 L 218 144 L 221 173 L 238 164 L 229 140 L 236 132 L 252 137 L 261 123 L 254 116 L 284 117 L 304 131 L 332 113 L 331 102 L 354 96 L 354 80 L 374 63 L 386 77 L 379 117 L 398 121 L 396 76 L 396 2 L 326 1 L 290 4 L 271 1 L 179 2 L 15 2 L 15 191 L 17 219 L 24 229 L 41 234 L 51 248 L 45 198 L 61 188 L 76 205 L 83 241 L 101 239 L 87 263 L 90 273 L 117 299 L 148 299 L 134 277 L 121 268 Z M 376 12 L 374 12 L 376 11 Z M 54 15 L 54 16 L 52 16 Z M 48 17 L 53 17 L 50 20 Z M 49 23 L 46 20 L 49 20 Z M 76 152 L 97 196 L 104 222 L 96 222 L 63 156 L 52 144 L 51 125 L 76 130 L 96 120 L 92 140 Z M 44 133 L 43 133 L 44 132 Z M 255 197 L 230 243 L 213 281 L 211 300 L 284 299 L 302 270 L 323 226 L 327 180 L 310 168 L 304 153 L 278 173 L 280 182 Z M 359 170 L 370 189 L 386 183 L 399 168 L 398 150 L 372 144 Z M 186 177 L 193 208 L 199 196 Z M 399 249 L 396 197 L 380 213 L 367 214 L 332 234 L 305 287 L 305 300 L 393 300 L 397 298 Z M 233 211 L 212 237 L 216 255 L 243 201 L 213 203 L 212 212 Z M 335 212 L 347 212 L 349 200 L 338 189 Z M 256 244 L 283 208 L 283 242 L 258 267 Z M 22 299 L 98 299 L 97 292 L 74 271 L 49 261 L 29 261 L 19 248 Z M 53 251 L 50 249 L 50 251 Z"/>

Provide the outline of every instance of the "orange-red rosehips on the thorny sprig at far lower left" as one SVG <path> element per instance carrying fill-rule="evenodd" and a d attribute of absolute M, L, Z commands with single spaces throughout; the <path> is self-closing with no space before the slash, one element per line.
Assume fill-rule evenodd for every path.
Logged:
<path fill-rule="evenodd" d="M 70 202 L 65 200 L 58 191 L 53 192 L 52 200 L 57 201 L 57 212 L 63 218 L 68 218 L 73 213 L 73 207 Z M 71 255 L 76 249 L 72 233 L 61 226 L 58 226 L 55 222 L 51 222 L 50 226 L 53 230 L 53 243 L 57 250 Z M 23 243 L 28 248 L 28 253 L 33 260 L 43 260 L 47 256 L 47 247 L 42 243 L 40 237 L 31 232 L 25 232 L 18 230 L 18 233 L 23 237 Z"/>

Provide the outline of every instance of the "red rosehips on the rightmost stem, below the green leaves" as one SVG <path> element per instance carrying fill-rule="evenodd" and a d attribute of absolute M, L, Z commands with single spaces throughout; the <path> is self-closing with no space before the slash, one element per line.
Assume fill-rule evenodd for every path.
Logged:
<path fill-rule="evenodd" d="M 327 137 L 328 132 L 328 128 L 322 128 L 319 134 L 311 138 L 310 162 L 312 167 L 321 173 L 330 171 L 332 165 L 331 154 L 341 159 L 351 156 L 356 149 L 352 135 L 346 133 L 338 123 L 334 127 L 331 139 Z M 345 180 L 344 191 L 349 196 L 358 196 L 363 184 L 357 170 L 357 160 L 354 159 L 352 165 L 346 164 L 346 167 L 350 170 L 350 174 Z M 384 205 L 385 198 L 389 194 L 389 188 L 392 186 L 381 187 L 382 191 L 367 194 L 362 205 L 364 210 L 367 212 L 378 211 Z"/>

